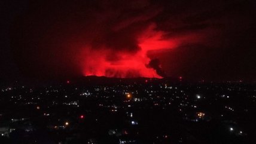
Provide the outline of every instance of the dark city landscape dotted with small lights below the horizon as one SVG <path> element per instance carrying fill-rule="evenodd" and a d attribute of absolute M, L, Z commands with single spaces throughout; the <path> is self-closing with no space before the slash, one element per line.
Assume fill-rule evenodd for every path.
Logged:
<path fill-rule="evenodd" d="M 115 80 L 2 85 L 0 143 L 255 143 L 255 83 Z"/>

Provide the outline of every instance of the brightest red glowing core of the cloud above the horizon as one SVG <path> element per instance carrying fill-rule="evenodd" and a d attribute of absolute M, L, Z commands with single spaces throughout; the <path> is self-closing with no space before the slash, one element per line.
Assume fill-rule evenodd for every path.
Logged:
<path fill-rule="evenodd" d="M 163 50 L 176 47 L 176 42 L 172 39 L 163 39 L 164 32 L 155 30 L 156 25 L 150 24 L 142 30 L 136 41 L 138 41 L 138 51 L 114 51 L 109 48 L 101 47 L 96 50 L 86 47 L 83 48 L 84 75 L 96 75 L 107 77 L 150 77 L 161 78 L 156 69 L 148 66 L 150 57 L 148 51 Z M 118 57 L 108 59 L 108 57 Z"/>

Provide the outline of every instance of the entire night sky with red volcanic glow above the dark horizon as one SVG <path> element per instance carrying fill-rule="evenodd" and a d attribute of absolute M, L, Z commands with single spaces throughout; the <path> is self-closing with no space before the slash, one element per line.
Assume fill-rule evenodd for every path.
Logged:
<path fill-rule="evenodd" d="M 0 79 L 256 80 L 256 2 L 1 2 Z"/>

